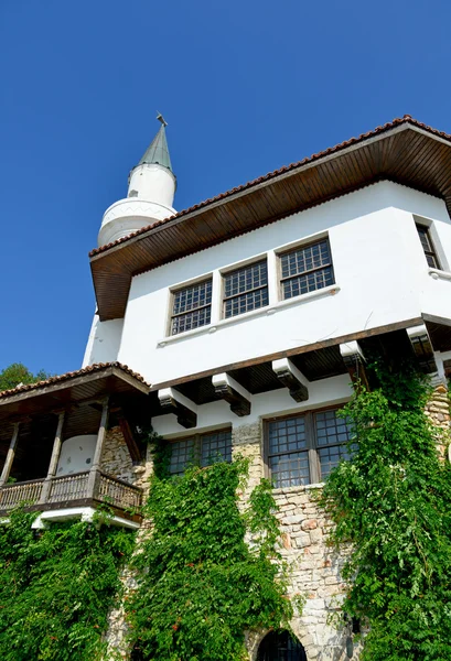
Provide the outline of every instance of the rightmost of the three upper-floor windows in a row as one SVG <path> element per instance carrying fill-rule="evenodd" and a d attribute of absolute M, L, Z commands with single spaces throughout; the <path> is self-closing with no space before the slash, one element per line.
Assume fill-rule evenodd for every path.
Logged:
<path fill-rule="evenodd" d="M 292 299 L 334 284 L 327 239 L 280 256 L 282 299 Z"/>

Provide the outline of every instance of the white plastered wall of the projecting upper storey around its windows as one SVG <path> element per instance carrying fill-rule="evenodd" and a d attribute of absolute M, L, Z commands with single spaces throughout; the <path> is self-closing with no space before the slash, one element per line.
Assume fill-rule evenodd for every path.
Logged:
<path fill-rule="evenodd" d="M 451 293 L 451 281 L 430 277 L 414 214 L 432 221 L 451 262 L 451 223 L 444 203 L 382 182 L 138 275 L 130 289 L 118 359 L 159 383 L 415 318 L 422 307 L 430 314 L 444 313 L 449 304 L 442 289 Z M 280 303 L 271 269 L 275 249 L 325 235 L 335 272 L 333 291 Z M 221 319 L 219 271 L 267 253 L 269 306 Z M 168 337 L 171 288 L 210 275 L 212 324 Z M 96 349 L 90 356 L 90 361 L 97 360 Z"/>

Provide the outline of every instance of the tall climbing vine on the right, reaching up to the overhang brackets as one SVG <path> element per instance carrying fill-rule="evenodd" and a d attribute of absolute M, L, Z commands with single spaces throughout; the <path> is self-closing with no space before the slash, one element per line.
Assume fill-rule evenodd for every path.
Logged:
<path fill-rule="evenodd" d="M 362 661 L 451 659 L 451 470 L 425 415 L 427 382 L 376 360 L 343 414 L 358 441 L 329 478 L 332 540 L 350 548 L 344 610 L 368 625 Z"/>

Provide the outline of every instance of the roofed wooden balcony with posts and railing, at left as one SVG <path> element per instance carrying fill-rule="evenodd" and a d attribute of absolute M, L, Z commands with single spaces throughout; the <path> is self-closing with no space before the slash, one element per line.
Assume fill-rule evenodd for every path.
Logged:
<path fill-rule="evenodd" d="M 131 466 L 143 454 L 133 430 L 148 392 L 138 375 L 108 364 L 0 393 L 0 517 L 21 506 L 43 521 L 87 520 L 106 505 L 115 524 L 139 527 Z M 103 458 L 109 429 L 120 436 L 119 463 Z"/>

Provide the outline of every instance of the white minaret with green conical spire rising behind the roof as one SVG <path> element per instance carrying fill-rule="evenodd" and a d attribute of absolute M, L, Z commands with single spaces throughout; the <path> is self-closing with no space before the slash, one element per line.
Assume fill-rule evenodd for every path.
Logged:
<path fill-rule="evenodd" d="M 161 121 L 161 128 L 138 165 L 130 172 L 127 197 L 115 202 L 105 212 L 98 234 L 99 246 L 116 241 L 176 213 L 172 208 L 176 180 L 168 149 L 168 123 L 161 115 L 157 119 Z"/>

